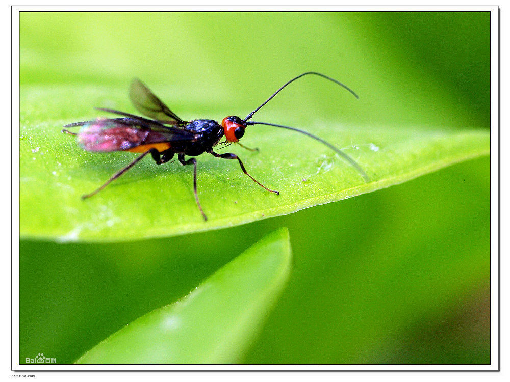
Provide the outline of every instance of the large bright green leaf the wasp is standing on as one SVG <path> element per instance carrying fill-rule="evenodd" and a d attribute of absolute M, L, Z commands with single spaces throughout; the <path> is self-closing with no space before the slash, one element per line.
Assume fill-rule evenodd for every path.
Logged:
<path fill-rule="evenodd" d="M 162 99 L 168 96 L 161 94 Z M 48 99 L 54 100 L 58 112 L 50 114 L 41 107 Z M 124 101 L 118 105 L 112 100 Z M 90 105 L 132 112 L 124 89 L 22 86 L 21 104 L 25 105 L 19 141 L 22 238 L 133 240 L 236 226 L 372 192 L 489 153 L 486 130 L 345 126 L 305 122 L 281 113 L 268 120 L 287 119 L 289 125 L 326 139 L 356 160 L 371 181 L 365 183 L 333 150 L 304 135 L 249 126 L 243 144 L 260 147 L 259 153 L 234 145 L 218 151 L 238 154 L 253 177 L 280 195 L 251 181 L 237 161 L 203 154 L 197 160 L 198 195 L 209 217 L 204 222 L 193 197 L 193 169 L 176 160 L 157 166 L 150 157 L 144 158 L 96 196 L 80 198 L 138 154 L 83 151 L 74 137 L 60 132 L 61 127 L 98 116 Z M 192 113 L 181 118 L 191 119 Z M 226 110 L 209 117 L 224 115 Z"/>

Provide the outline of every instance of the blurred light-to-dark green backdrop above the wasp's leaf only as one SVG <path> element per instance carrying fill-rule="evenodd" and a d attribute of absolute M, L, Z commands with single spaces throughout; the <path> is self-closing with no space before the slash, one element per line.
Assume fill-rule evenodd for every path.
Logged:
<path fill-rule="evenodd" d="M 223 104 L 223 118 L 316 70 L 359 102 L 309 78 L 264 113 L 279 105 L 349 124 L 488 128 L 490 39 L 489 12 L 22 12 L 20 81 L 124 86 L 137 76 L 166 87 L 180 117 Z M 52 114 L 53 102 L 44 102 Z"/>

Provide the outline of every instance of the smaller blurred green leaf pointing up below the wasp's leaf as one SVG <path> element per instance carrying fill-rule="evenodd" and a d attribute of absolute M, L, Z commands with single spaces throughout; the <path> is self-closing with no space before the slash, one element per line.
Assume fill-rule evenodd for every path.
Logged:
<path fill-rule="evenodd" d="M 127 324 L 75 363 L 239 362 L 284 288 L 291 262 L 289 231 L 278 229 L 187 296 Z"/>

